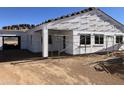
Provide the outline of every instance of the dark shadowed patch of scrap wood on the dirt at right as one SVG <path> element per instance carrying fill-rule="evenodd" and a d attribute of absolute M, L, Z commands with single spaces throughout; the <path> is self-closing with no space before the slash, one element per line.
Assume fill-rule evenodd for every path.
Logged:
<path fill-rule="evenodd" d="M 96 71 L 105 71 L 109 74 L 116 74 L 120 78 L 124 79 L 124 59 L 119 58 L 113 58 L 109 59 L 107 61 L 100 61 L 97 62 L 97 64 L 94 66 L 94 69 Z"/>

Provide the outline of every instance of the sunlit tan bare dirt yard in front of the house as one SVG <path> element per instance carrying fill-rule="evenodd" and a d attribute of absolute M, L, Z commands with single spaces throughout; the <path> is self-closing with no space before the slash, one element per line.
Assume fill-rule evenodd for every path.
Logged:
<path fill-rule="evenodd" d="M 124 84 L 124 79 L 119 77 L 120 74 L 107 73 L 105 69 L 101 70 L 101 67 L 96 64 L 112 59 L 113 55 L 92 54 L 42 59 L 38 55 L 31 56 L 30 54 L 29 56 L 26 52 L 11 51 L 8 55 L 5 54 L 0 54 L 0 84 Z M 123 65 L 119 64 L 120 66 Z M 123 69 L 124 66 L 120 70 Z"/>

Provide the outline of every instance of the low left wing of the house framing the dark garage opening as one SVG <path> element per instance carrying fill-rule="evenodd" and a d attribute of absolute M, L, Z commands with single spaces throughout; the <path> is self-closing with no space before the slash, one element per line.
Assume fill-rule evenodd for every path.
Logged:
<path fill-rule="evenodd" d="M 0 50 L 26 48 L 26 33 L 0 30 Z"/>

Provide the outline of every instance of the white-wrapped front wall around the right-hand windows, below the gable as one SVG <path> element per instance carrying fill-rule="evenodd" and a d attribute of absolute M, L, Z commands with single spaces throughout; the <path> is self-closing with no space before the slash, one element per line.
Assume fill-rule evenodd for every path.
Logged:
<path fill-rule="evenodd" d="M 91 34 L 91 44 L 90 45 L 80 45 L 80 35 L 81 34 Z M 104 44 L 95 44 L 95 34 L 103 34 L 104 35 Z M 77 54 L 86 54 L 86 53 L 95 53 L 95 52 L 105 52 L 105 51 L 113 51 L 113 50 L 123 50 L 124 44 L 116 44 L 116 36 L 124 34 L 117 33 L 96 33 L 96 32 L 80 32 L 73 31 L 73 55 Z M 109 40 L 108 37 L 110 36 Z"/>

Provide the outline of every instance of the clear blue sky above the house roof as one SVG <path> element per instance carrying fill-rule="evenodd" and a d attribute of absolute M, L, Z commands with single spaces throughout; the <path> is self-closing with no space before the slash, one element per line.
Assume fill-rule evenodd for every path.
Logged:
<path fill-rule="evenodd" d="M 78 8 L 0 8 L 0 28 L 12 24 L 39 24 L 45 20 L 56 18 L 72 12 L 83 10 Z M 114 19 L 124 24 L 124 8 L 100 8 Z"/>

